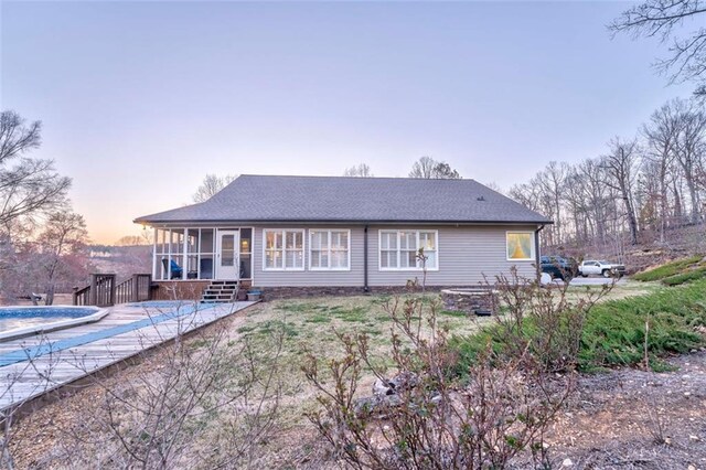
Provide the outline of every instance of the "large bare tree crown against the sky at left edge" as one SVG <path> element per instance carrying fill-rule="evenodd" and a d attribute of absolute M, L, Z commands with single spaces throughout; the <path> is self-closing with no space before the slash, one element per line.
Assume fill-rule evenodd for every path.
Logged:
<path fill-rule="evenodd" d="M 0 227 L 55 209 L 65 201 L 71 180 L 54 171 L 51 160 L 24 157 L 40 146 L 42 125 L 25 126 L 14 111 L 0 113 Z"/>

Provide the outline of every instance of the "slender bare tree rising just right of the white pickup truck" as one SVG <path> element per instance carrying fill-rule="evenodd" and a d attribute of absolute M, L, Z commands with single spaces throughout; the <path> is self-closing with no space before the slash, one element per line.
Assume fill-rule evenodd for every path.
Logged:
<path fill-rule="evenodd" d="M 616 137 L 609 143 L 610 153 L 603 157 L 603 165 L 608 170 L 606 184 L 619 192 L 622 199 L 628 226 L 630 228 L 630 243 L 638 244 L 638 221 L 634 212 L 632 186 L 638 168 L 637 140 L 621 141 Z"/>

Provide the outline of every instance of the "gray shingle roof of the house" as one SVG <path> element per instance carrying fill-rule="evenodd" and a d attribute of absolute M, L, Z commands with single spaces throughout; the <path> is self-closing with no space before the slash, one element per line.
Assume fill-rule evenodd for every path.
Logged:
<path fill-rule="evenodd" d="M 206 202 L 135 222 L 552 223 L 474 180 L 253 174 Z"/>

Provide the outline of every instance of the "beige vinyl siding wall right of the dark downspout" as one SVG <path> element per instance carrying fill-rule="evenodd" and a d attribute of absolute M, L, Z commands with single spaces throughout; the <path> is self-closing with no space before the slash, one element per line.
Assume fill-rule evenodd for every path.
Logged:
<path fill-rule="evenodd" d="M 438 270 L 427 271 L 428 286 L 472 286 L 483 281 L 483 274 L 493 280 L 499 274 L 510 274 L 517 266 L 522 276 L 534 277 L 534 260 L 509 261 L 505 246 L 507 231 L 531 231 L 536 225 L 520 226 L 371 226 L 368 228 L 370 286 L 404 286 L 415 277 L 421 281 L 421 270 L 381 270 L 378 232 L 387 229 L 436 229 Z"/>

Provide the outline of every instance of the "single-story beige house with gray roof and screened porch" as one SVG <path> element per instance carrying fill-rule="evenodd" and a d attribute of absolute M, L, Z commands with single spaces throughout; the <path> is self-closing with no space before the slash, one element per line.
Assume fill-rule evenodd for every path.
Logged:
<path fill-rule="evenodd" d="M 552 221 L 473 180 L 244 174 L 210 200 L 138 217 L 153 279 L 182 296 L 216 280 L 272 295 L 472 286 L 536 274 Z M 185 293 L 185 292 L 191 293 Z"/>

